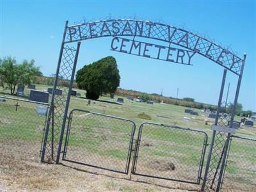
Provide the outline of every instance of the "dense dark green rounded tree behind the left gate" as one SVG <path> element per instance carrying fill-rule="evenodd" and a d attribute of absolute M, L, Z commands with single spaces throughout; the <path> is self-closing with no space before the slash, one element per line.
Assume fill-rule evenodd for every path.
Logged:
<path fill-rule="evenodd" d="M 86 90 L 86 98 L 97 100 L 104 93 L 114 93 L 120 84 L 119 70 L 112 56 L 77 71 L 76 83 L 78 88 Z"/>

